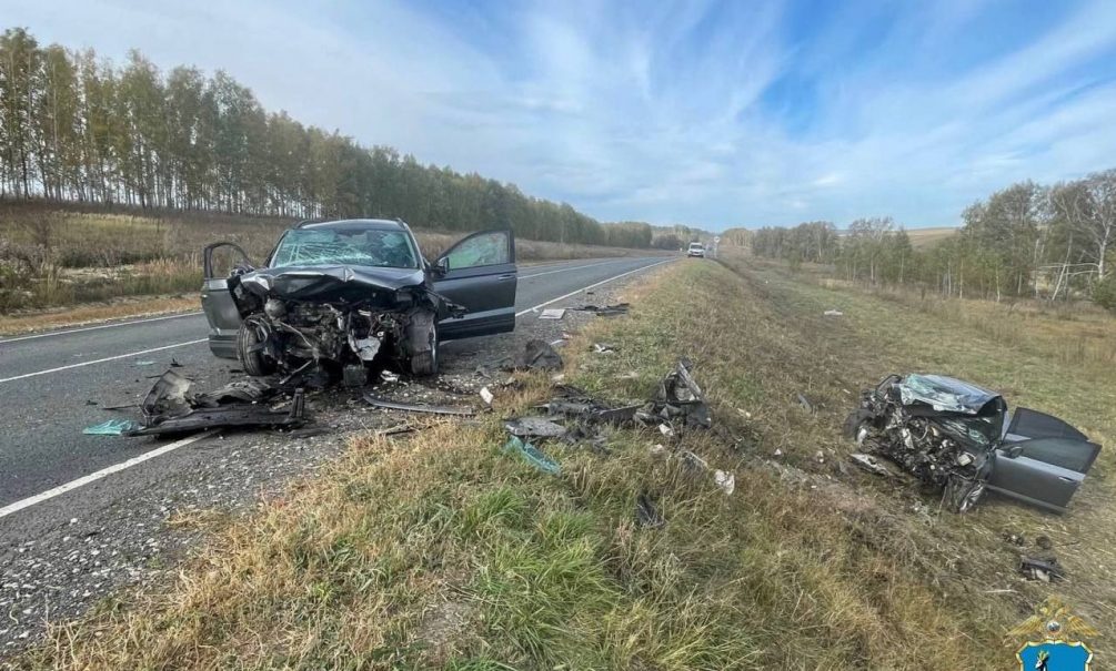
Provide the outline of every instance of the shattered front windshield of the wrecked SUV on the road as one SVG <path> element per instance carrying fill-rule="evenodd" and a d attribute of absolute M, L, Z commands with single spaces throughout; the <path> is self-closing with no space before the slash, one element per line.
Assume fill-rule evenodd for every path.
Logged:
<path fill-rule="evenodd" d="M 419 257 L 402 231 L 295 228 L 279 241 L 270 265 L 419 268 Z"/>

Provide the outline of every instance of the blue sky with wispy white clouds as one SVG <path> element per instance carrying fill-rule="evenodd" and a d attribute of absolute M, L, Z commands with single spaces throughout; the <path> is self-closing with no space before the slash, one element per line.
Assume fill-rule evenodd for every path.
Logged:
<path fill-rule="evenodd" d="M 603 220 L 955 225 L 1116 166 L 1116 1 L 0 0 Z"/>

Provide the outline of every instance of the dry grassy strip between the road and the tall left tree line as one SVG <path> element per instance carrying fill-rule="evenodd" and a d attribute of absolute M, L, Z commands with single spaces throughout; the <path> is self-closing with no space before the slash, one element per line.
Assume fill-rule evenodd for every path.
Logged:
<path fill-rule="evenodd" d="M 2 205 L 0 314 L 125 296 L 192 294 L 201 286 L 203 246 L 228 240 L 240 244 L 259 262 L 292 223 L 294 220 L 279 217 L 221 213 L 153 216 L 81 212 L 40 204 Z M 464 235 L 415 233 L 427 257 Z M 517 241 L 516 251 L 520 261 L 663 253 L 530 240 Z"/>

